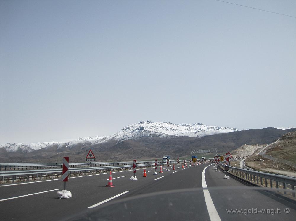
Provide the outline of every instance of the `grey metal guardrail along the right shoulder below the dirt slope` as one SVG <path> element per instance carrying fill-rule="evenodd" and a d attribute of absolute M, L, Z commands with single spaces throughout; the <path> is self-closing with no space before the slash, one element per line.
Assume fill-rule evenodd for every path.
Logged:
<path fill-rule="evenodd" d="M 225 165 L 222 163 L 219 163 L 220 168 L 222 167 L 223 169 L 225 168 Z M 242 169 L 238 167 L 233 167 L 229 166 L 229 171 L 233 173 L 235 176 L 240 176 L 240 177 L 245 177 L 246 180 L 250 182 L 256 182 L 259 185 L 259 179 L 260 179 L 260 185 L 263 186 L 263 179 L 265 183 L 265 187 L 268 185 L 269 181 L 269 186 L 270 188 L 273 188 L 273 182 L 276 184 L 276 188 L 279 188 L 279 182 L 282 183 L 283 189 L 286 189 L 286 185 L 290 185 L 291 190 L 294 190 L 294 186 L 296 186 L 296 178 L 295 177 L 290 177 L 290 176 L 284 176 L 284 175 L 278 175 L 278 174 L 272 174 L 272 173 L 264 173 L 264 172 L 259 172 L 255 170 L 248 170 L 248 169 Z M 255 179 L 256 177 L 256 179 Z M 267 181 L 268 180 L 268 181 Z M 285 192 L 284 192 L 285 194 Z M 292 193 L 293 197 L 295 198 L 295 192 Z"/>

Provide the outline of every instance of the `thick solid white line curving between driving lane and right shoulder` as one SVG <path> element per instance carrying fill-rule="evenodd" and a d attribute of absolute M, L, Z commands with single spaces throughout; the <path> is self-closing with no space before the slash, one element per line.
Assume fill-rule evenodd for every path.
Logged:
<path fill-rule="evenodd" d="M 202 188 L 207 188 L 207 183 L 205 181 L 205 169 L 213 164 L 206 166 L 202 171 Z M 203 189 L 204 196 L 205 196 L 205 203 L 207 205 L 207 212 L 209 213 L 211 221 L 221 221 L 216 207 L 213 203 L 212 197 L 208 189 Z"/>

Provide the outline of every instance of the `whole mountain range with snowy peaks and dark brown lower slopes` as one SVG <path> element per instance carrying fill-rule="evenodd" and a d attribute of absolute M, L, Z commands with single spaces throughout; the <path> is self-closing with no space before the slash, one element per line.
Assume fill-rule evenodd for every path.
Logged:
<path fill-rule="evenodd" d="M 226 153 L 244 144 L 272 143 L 295 130 L 296 128 L 268 127 L 239 131 L 235 128 L 205 126 L 201 123 L 141 121 L 106 137 L 83 137 L 63 143 L 1 145 L 0 162 L 60 162 L 63 156 L 69 156 L 71 162 L 83 162 L 89 149 L 96 156 L 96 161 L 147 160 L 162 158 L 164 155 L 188 158 L 191 150 L 216 148 L 217 153 Z"/>

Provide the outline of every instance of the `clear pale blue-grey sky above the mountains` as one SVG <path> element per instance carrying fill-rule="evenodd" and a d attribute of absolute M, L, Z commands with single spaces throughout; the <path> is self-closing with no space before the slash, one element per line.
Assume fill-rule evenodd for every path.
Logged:
<path fill-rule="evenodd" d="M 152 122 L 296 127 L 296 1 L 0 1 L 0 143 Z"/>

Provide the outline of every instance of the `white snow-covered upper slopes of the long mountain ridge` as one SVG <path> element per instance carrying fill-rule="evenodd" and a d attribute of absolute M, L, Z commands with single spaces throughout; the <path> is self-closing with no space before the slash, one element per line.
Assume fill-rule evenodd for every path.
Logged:
<path fill-rule="evenodd" d="M 115 140 L 120 143 L 124 140 L 139 139 L 142 137 L 169 137 L 169 136 L 187 136 L 187 137 L 203 137 L 207 135 L 213 135 L 218 133 L 227 133 L 238 131 L 235 128 L 229 127 L 216 127 L 206 126 L 201 123 L 197 124 L 172 124 L 169 122 L 151 122 L 141 121 L 139 123 L 131 124 L 123 127 L 115 134 L 106 137 L 83 137 L 70 142 L 45 142 L 45 143 L 7 143 L 0 145 L 0 148 L 4 148 L 7 152 L 31 152 L 41 148 L 47 148 L 53 144 L 59 146 L 67 145 L 67 148 L 73 148 L 76 145 L 90 145 L 94 143 L 104 143 L 110 140 Z M 59 147 L 58 147 L 59 148 Z"/>

